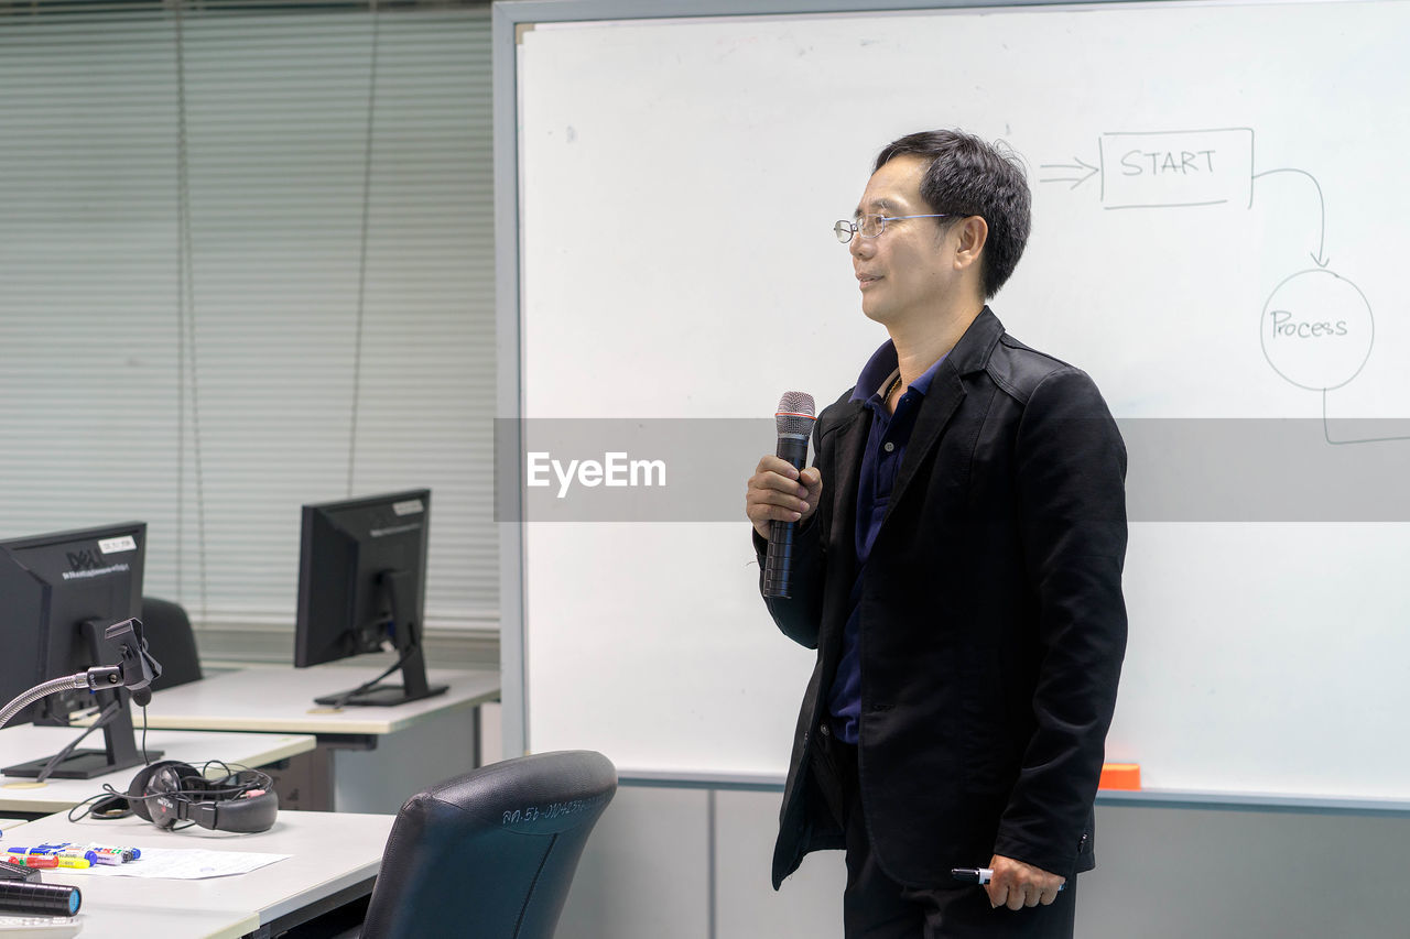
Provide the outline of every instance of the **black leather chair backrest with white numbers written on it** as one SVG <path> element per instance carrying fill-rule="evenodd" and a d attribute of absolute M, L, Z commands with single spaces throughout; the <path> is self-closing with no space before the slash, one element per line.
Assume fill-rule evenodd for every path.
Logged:
<path fill-rule="evenodd" d="M 417 792 L 392 823 L 362 939 L 550 939 L 615 792 L 616 767 L 591 750 L 505 760 Z"/>

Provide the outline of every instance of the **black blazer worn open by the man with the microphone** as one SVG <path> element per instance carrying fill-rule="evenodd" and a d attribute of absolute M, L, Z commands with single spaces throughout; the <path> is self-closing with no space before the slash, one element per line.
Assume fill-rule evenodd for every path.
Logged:
<path fill-rule="evenodd" d="M 812 778 L 854 579 L 870 413 L 850 392 L 814 429 L 823 479 L 797 532 L 778 627 L 818 650 L 784 791 L 774 887 L 842 847 Z M 1077 368 L 988 310 L 921 406 L 862 596 L 862 801 L 881 869 L 909 885 L 994 853 L 1090 870 L 1093 801 L 1125 653 L 1125 446 Z M 756 536 L 763 557 L 764 543 Z"/>

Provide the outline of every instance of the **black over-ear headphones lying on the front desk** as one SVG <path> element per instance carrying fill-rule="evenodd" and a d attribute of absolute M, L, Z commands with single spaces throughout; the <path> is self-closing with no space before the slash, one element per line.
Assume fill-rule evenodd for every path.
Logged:
<path fill-rule="evenodd" d="M 179 760 L 144 767 L 127 787 L 127 802 L 137 818 L 166 829 L 190 821 L 217 832 L 264 832 L 279 814 L 268 774 L 237 770 L 223 780 L 207 780 Z"/>

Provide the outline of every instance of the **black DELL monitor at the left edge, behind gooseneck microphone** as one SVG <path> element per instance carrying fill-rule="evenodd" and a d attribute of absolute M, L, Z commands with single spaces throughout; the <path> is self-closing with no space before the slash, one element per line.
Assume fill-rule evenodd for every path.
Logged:
<path fill-rule="evenodd" d="M 104 630 L 141 613 L 145 551 L 145 522 L 0 541 L 0 702 L 52 678 L 118 664 L 118 646 Z M 124 688 L 75 689 L 30 705 L 17 720 L 69 726 L 73 711 L 96 704 L 99 722 L 89 730 L 102 726 L 104 749 L 70 746 L 58 759 L 6 767 L 4 775 L 90 780 L 138 766 L 130 696 Z"/>

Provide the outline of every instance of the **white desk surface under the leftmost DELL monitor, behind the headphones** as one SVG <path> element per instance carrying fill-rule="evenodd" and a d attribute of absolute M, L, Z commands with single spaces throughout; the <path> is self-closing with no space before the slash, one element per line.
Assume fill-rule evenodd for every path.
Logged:
<path fill-rule="evenodd" d="M 141 716 L 138 715 L 138 723 Z M 0 760 L 3 766 L 38 760 L 58 753 L 78 736 L 76 728 L 35 728 L 20 725 L 0 730 Z M 96 743 L 93 740 L 96 739 Z M 142 729 L 137 728 L 141 749 Z M 102 747 L 103 736 L 94 732 L 83 746 Z M 148 750 L 162 750 L 162 760 L 200 764 L 224 760 L 243 766 L 264 766 L 276 760 L 307 753 L 317 739 L 305 735 L 274 733 L 196 733 L 190 730 L 151 730 Z M 79 802 L 103 791 L 103 784 L 124 791 L 137 775 L 138 767 L 118 770 L 93 780 L 49 780 L 38 787 L 32 780 L 0 777 L 0 812 L 66 812 Z"/>

